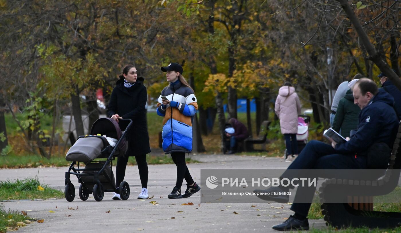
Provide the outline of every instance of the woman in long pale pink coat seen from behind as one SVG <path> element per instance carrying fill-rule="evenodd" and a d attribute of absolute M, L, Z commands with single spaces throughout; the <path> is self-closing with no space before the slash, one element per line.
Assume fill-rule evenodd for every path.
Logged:
<path fill-rule="evenodd" d="M 288 154 L 292 155 L 292 157 L 285 159 L 286 162 L 291 162 L 292 158 L 298 154 L 296 136 L 298 132 L 298 115 L 301 113 L 300 99 L 291 83 L 286 82 L 283 87 L 280 87 L 274 111 L 280 119 L 281 133 L 284 134 Z"/>

